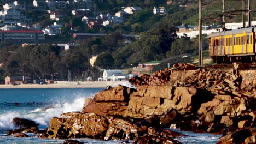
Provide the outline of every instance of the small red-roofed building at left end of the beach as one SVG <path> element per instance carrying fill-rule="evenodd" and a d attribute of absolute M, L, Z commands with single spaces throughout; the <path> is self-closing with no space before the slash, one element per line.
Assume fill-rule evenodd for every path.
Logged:
<path fill-rule="evenodd" d="M 31 83 L 31 78 L 28 76 L 7 76 L 4 80 L 5 85 L 20 85 L 23 83 Z"/>

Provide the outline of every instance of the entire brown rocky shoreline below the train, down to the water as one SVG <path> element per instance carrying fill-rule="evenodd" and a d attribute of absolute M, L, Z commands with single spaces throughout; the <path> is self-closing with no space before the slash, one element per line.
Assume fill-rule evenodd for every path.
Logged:
<path fill-rule="evenodd" d="M 39 137 L 181 143 L 174 138 L 184 135 L 171 127 L 223 135 L 219 144 L 256 143 L 256 69 L 179 63 L 129 82 L 136 89 L 108 87 L 87 99 L 82 112 L 51 118 Z"/>

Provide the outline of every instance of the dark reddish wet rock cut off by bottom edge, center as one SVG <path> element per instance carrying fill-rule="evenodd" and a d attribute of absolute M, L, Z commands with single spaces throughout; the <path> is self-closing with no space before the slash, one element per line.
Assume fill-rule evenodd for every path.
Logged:
<path fill-rule="evenodd" d="M 137 137 L 133 141 L 133 144 L 181 144 L 181 142 L 173 140 L 170 137 L 160 138 L 157 136 L 150 135 Z"/>

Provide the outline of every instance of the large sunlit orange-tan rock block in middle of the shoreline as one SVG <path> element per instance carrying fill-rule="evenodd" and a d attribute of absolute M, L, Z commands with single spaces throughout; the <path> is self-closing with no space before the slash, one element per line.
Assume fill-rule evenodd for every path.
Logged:
<path fill-rule="evenodd" d="M 204 97 L 205 94 L 208 97 Z M 181 114 L 191 113 L 212 98 L 211 93 L 191 87 L 139 86 L 137 92 L 131 94 L 126 116 L 144 118 L 164 115 L 170 109 Z"/>

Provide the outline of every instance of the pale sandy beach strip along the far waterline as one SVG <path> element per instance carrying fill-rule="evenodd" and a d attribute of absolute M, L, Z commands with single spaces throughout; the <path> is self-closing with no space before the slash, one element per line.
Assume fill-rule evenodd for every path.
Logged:
<path fill-rule="evenodd" d="M 0 85 L 1 88 L 105 88 L 107 86 L 116 87 L 120 85 L 127 85 L 127 81 L 88 81 L 88 82 L 80 82 L 77 85 L 77 82 L 68 82 L 68 81 L 57 81 L 56 84 L 22 84 L 22 85 Z"/>

